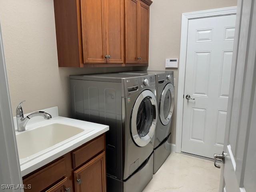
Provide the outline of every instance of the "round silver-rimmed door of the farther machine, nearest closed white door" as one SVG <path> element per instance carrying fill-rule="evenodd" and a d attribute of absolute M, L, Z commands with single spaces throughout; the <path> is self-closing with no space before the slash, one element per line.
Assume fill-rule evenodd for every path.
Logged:
<path fill-rule="evenodd" d="M 174 88 L 168 83 L 161 94 L 159 116 L 163 125 L 167 125 L 171 118 L 174 108 Z"/>

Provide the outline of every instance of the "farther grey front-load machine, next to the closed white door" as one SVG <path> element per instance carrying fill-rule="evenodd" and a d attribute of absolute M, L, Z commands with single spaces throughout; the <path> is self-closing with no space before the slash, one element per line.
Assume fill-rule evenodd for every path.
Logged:
<path fill-rule="evenodd" d="M 154 74 L 158 101 L 158 122 L 154 142 L 154 174 L 171 152 L 171 126 L 174 110 L 173 71 L 131 71 L 124 74 Z"/>

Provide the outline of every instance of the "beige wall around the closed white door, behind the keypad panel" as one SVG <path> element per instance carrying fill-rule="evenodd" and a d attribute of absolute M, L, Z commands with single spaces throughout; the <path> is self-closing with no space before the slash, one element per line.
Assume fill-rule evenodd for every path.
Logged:
<path fill-rule="evenodd" d="M 165 70 L 166 58 L 180 57 L 182 13 L 236 6 L 237 0 L 154 0 L 150 6 L 150 44 L 148 70 Z M 175 111 L 172 123 L 172 143 L 176 136 L 176 106 L 178 70 L 176 78 Z"/>

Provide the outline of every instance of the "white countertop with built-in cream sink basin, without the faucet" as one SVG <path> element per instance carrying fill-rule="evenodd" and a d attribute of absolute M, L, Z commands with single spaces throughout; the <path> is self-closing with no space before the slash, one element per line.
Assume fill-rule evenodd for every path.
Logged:
<path fill-rule="evenodd" d="M 109 126 L 59 116 L 58 107 L 42 109 L 52 116 L 31 118 L 25 131 L 14 128 L 20 160 L 21 175 L 25 176 L 42 166 L 64 156 L 109 130 Z M 28 116 L 30 114 L 24 114 Z"/>

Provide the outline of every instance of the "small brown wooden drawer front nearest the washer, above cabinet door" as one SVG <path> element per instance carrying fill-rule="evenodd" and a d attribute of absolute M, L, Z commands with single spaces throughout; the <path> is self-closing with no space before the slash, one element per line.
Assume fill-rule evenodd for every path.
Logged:
<path fill-rule="evenodd" d="M 103 151 L 105 148 L 105 134 L 72 152 L 73 168 L 76 168 Z"/>

